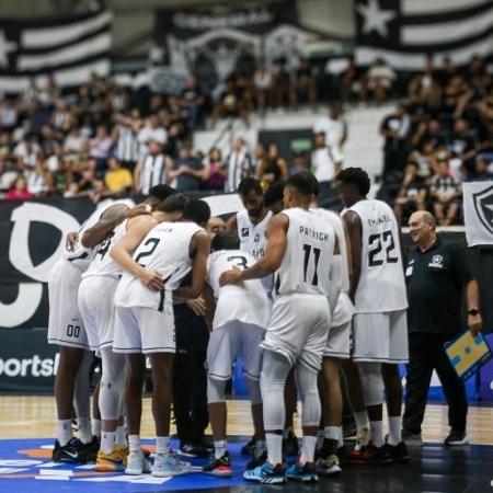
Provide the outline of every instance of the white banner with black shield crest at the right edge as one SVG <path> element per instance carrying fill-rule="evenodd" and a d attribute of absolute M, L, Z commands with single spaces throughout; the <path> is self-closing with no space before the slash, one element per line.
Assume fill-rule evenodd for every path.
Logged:
<path fill-rule="evenodd" d="M 462 197 L 468 245 L 493 245 L 493 181 L 463 183 Z"/>

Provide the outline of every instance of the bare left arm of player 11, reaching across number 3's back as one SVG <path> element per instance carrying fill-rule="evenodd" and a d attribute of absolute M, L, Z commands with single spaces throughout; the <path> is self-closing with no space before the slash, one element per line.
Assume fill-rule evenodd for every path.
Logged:
<path fill-rule="evenodd" d="M 265 229 L 265 236 L 267 237 L 265 255 L 244 271 L 233 268 L 223 272 L 219 278 L 219 284 L 225 286 L 227 284 L 241 283 L 242 280 L 257 279 L 277 271 L 286 253 L 288 226 L 289 218 L 285 214 L 273 216 Z"/>

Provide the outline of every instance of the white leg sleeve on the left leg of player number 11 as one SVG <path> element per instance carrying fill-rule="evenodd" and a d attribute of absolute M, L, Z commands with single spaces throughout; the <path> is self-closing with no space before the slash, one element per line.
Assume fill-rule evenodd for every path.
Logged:
<path fill-rule="evenodd" d="M 260 388 L 264 403 L 264 428 L 267 432 L 284 428 L 286 420 L 284 386 L 289 370 L 287 358 L 271 351 L 264 353 Z"/>

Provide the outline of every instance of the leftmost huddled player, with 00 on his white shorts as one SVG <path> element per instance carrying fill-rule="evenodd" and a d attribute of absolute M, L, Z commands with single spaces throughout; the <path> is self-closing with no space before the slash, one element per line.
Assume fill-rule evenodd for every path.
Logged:
<path fill-rule="evenodd" d="M 95 253 L 94 246 L 125 218 L 145 213 L 144 206 L 130 209 L 112 204 L 96 209 L 79 233 L 67 237 L 67 252 L 55 264 L 48 279 L 49 321 L 48 343 L 59 346 L 60 359 L 55 377 L 55 399 L 58 422 L 57 440 L 53 450 L 55 462 L 88 462 L 95 460 L 99 443 L 93 439 L 90 421 L 89 369 L 93 354 L 89 351 L 85 328 L 77 305 L 81 275 Z M 99 234 L 87 241 L 79 238 L 101 219 Z M 72 436 L 72 402 L 76 408 L 80 439 Z"/>

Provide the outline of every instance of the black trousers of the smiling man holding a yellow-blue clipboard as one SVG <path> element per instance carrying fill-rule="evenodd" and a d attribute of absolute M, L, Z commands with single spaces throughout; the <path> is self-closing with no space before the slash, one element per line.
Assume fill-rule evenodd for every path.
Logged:
<path fill-rule="evenodd" d="M 444 344 L 449 339 L 424 332 L 409 334 L 408 383 L 402 427 L 411 433 L 421 433 L 434 369 L 447 399 L 449 426 L 458 432 L 466 431 L 468 413 L 466 388 L 445 353 Z"/>

